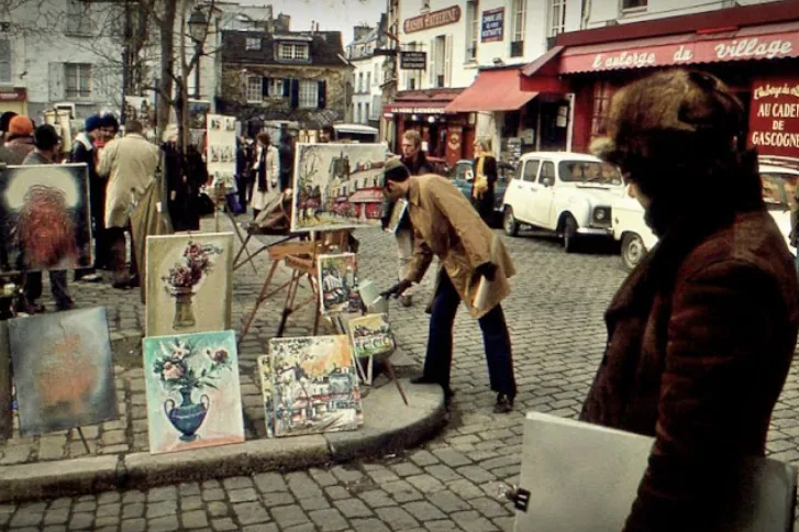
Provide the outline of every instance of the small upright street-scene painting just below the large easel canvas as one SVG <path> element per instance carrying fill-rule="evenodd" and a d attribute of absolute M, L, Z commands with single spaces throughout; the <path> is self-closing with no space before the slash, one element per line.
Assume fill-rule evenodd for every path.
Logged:
<path fill-rule="evenodd" d="M 320 255 L 317 261 L 322 314 L 358 312 L 362 303 L 358 293 L 358 264 L 355 254 Z"/>

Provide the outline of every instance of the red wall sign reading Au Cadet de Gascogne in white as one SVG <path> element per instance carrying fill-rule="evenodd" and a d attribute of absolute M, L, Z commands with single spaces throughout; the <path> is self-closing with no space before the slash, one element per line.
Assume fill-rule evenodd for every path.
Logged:
<path fill-rule="evenodd" d="M 799 79 L 755 81 L 748 144 L 761 155 L 799 157 Z"/>

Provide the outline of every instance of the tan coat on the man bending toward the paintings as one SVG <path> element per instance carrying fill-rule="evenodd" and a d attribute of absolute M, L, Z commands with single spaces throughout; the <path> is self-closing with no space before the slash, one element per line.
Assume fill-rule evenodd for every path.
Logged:
<path fill-rule="evenodd" d="M 406 278 L 421 281 L 435 255 L 473 317 L 484 317 L 508 297 L 508 279 L 515 274 L 513 262 L 501 237 L 450 180 L 436 175 L 411 177 L 408 213 L 415 242 Z M 473 306 L 477 280 L 471 282 L 471 277 L 477 266 L 488 262 L 497 265 L 497 278 L 488 303 L 478 310 Z"/>

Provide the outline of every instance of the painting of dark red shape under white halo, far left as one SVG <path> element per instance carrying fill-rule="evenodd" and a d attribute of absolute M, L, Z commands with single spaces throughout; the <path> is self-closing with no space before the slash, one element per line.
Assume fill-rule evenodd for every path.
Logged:
<path fill-rule="evenodd" d="M 0 270 L 91 266 L 88 179 L 86 165 L 0 173 Z"/>

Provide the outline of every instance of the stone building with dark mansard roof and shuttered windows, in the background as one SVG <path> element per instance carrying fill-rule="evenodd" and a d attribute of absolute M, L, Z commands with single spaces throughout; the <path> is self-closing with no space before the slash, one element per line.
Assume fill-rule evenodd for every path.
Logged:
<path fill-rule="evenodd" d="M 222 32 L 219 112 L 248 123 L 319 129 L 352 120 L 353 66 L 341 32 Z"/>

